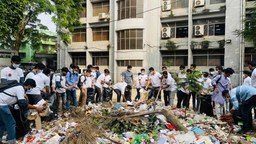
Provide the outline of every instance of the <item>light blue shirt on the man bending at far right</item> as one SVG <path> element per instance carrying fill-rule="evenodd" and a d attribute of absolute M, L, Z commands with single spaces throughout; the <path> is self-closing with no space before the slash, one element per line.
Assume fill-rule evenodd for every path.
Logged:
<path fill-rule="evenodd" d="M 248 100 L 253 95 L 256 95 L 256 88 L 252 86 L 238 86 L 229 91 L 229 96 L 233 102 L 233 110 L 238 110 L 239 103 Z"/>

